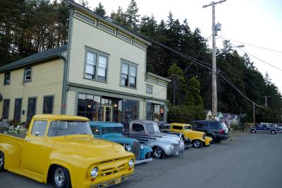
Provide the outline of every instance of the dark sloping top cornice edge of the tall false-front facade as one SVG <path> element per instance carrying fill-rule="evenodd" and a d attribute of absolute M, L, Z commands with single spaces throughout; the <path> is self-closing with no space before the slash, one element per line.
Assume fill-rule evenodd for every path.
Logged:
<path fill-rule="evenodd" d="M 72 8 L 76 8 L 79 11 L 82 11 L 83 13 L 87 13 L 90 16 L 94 16 L 98 20 L 102 20 L 104 23 L 111 25 L 114 28 L 117 28 L 118 30 L 123 31 L 124 33 L 126 33 L 128 35 L 132 35 L 137 40 L 140 40 L 140 42 L 144 42 L 146 45 L 152 45 L 151 42 L 144 39 L 144 36 L 142 36 L 138 33 L 134 33 L 133 30 L 125 28 L 123 25 L 114 22 L 114 20 L 111 20 L 109 18 L 105 18 L 104 16 L 100 15 L 99 13 L 91 11 L 90 9 L 86 8 L 85 6 L 82 6 L 80 4 L 75 3 L 75 1 L 68 0 L 66 3 L 69 4 Z"/>

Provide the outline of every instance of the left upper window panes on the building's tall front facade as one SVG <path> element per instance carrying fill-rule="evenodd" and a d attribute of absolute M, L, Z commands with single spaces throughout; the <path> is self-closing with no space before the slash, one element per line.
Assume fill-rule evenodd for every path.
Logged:
<path fill-rule="evenodd" d="M 106 55 L 87 50 L 85 78 L 106 82 L 107 64 Z"/>

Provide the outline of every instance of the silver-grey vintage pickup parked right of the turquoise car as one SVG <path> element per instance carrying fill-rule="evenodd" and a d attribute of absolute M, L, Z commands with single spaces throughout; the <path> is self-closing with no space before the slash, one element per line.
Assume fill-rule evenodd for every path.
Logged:
<path fill-rule="evenodd" d="M 166 155 L 180 155 L 184 151 L 181 137 L 161 133 L 156 122 L 134 120 L 130 122 L 126 135 L 152 148 L 153 156 L 157 159 L 164 158 Z"/>

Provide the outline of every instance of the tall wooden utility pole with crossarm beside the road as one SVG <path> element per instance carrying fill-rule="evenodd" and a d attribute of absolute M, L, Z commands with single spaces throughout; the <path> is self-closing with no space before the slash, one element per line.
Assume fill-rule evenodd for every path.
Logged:
<path fill-rule="evenodd" d="M 216 89 L 216 28 L 215 28 L 215 5 L 221 4 L 226 0 L 214 2 L 212 1 L 209 5 L 202 6 L 207 8 L 207 6 L 212 6 L 212 114 L 216 117 L 217 114 L 217 89 Z"/>

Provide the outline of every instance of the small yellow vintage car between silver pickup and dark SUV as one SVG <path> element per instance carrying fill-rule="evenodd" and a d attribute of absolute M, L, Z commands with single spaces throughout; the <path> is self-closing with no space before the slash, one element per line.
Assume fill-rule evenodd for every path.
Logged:
<path fill-rule="evenodd" d="M 184 137 L 192 141 L 192 146 L 195 148 L 201 148 L 202 146 L 210 146 L 212 143 L 212 138 L 206 136 L 205 133 L 201 131 L 193 131 L 190 124 L 171 124 L 171 131 L 184 134 Z"/>

